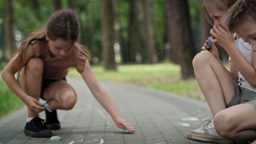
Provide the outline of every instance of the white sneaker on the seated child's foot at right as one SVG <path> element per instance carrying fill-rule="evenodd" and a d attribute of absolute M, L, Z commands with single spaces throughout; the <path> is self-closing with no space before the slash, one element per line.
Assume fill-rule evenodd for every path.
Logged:
<path fill-rule="evenodd" d="M 200 142 L 210 142 L 219 144 L 231 144 L 234 143 L 230 139 L 225 139 L 217 133 L 214 128 L 214 123 L 211 119 L 206 119 L 201 128 L 190 131 L 187 134 L 187 139 Z"/>

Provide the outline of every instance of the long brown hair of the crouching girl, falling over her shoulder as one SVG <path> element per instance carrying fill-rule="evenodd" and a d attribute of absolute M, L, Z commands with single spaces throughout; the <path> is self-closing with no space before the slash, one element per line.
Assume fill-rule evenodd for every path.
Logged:
<path fill-rule="evenodd" d="M 20 46 L 19 55 L 15 59 L 15 68 L 21 69 L 24 63 L 25 54 L 28 46 L 34 40 L 39 41 L 39 46 L 45 46 L 46 38 L 48 35 L 49 39 L 57 40 L 71 40 L 72 43 L 78 41 L 80 34 L 80 26 L 77 14 L 73 10 L 59 10 L 54 13 L 46 23 L 46 27 L 39 31 L 33 32 L 26 40 L 24 40 Z M 85 50 L 87 53 L 87 51 Z"/>

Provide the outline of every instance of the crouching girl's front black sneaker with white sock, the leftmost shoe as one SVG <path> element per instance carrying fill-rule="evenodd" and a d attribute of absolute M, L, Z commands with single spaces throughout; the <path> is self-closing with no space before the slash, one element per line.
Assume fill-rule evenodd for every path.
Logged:
<path fill-rule="evenodd" d="M 24 133 L 31 137 L 51 137 L 53 132 L 45 127 L 45 122 L 39 117 L 34 117 L 29 123 L 26 123 Z"/>

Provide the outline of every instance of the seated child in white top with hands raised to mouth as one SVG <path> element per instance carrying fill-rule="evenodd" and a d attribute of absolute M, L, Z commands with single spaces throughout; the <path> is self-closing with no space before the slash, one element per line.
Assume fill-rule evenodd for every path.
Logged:
<path fill-rule="evenodd" d="M 190 140 L 233 143 L 232 140 L 256 137 L 256 55 L 243 37 L 228 31 L 225 23 L 228 10 L 235 2 L 201 1 L 214 23 L 210 31 L 212 47 L 207 43 L 202 46 L 202 51 L 193 59 L 193 67 L 214 121 L 209 119 L 201 128 L 190 131 L 187 135 Z M 220 62 L 215 44 L 230 56 L 230 71 Z"/>

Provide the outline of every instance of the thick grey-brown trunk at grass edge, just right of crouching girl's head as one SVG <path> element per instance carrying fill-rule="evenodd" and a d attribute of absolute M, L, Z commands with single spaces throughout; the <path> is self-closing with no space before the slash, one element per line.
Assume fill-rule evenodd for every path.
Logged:
<path fill-rule="evenodd" d="M 113 5 L 111 0 L 101 1 L 101 32 L 103 46 L 103 66 L 105 70 L 117 70 L 115 63 L 115 53 L 113 49 L 114 29 L 113 29 Z"/>

